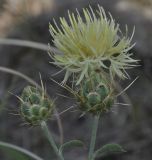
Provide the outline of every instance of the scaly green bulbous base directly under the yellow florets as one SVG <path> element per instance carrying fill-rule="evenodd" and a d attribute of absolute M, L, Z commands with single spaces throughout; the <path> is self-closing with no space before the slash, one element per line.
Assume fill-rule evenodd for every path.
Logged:
<path fill-rule="evenodd" d="M 114 104 L 113 87 L 98 73 L 82 81 L 78 93 L 80 109 L 92 114 L 107 112 Z"/>

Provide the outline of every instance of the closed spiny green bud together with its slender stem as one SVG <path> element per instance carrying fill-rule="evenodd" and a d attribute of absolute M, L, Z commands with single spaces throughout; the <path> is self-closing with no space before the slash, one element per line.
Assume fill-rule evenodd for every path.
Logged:
<path fill-rule="evenodd" d="M 54 152 L 60 160 L 63 160 L 64 158 L 59 154 L 58 147 L 46 124 L 46 121 L 53 114 L 54 101 L 47 96 L 43 84 L 41 90 L 33 86 L 25 87 L 19 99 L 21 100 L 21 116 L 25 122 L 32 126 L 41 125 Z"/>

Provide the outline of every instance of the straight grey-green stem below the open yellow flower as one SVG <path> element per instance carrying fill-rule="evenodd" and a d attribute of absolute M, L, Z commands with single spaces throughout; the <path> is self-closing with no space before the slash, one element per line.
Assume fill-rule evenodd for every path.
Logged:
<path fill-rule="evenodd" d="M 93 153 L 94 153 L 94 148 L 96 143 L 96 135 L 97 135 L 99 118 L 100 118 L 100 115 L 95 116 L 92 124 L 91 142 L 90 142 L 89 157 L 88 157 L 89 160 L 93 160 Z"/>

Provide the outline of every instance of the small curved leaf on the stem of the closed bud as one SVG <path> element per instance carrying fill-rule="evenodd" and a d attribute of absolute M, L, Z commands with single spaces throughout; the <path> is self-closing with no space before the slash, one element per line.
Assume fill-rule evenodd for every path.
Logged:
<path fill-rule="evenodd" d="M 63 150 L 72 148 L 72 147 L 83 147 L 84 143 L 80 140 L 71 140 L 61 145 L 59 152 L 62 154 Z"/>

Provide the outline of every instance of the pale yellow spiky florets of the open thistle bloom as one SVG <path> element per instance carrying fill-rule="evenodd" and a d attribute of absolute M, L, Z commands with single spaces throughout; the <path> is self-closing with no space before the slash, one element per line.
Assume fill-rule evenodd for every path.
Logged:
<path fill-rule="evenodd" d="M 125 69 L 134 66 L 136 60 L 128 51 L 133 47 L 131 38 L 122 35 L 119 24 L 115 23 L 111 14 L 109 18 L 101 6 L 97 11 L 83 9 L 83 16 L 76 10 L 68 12 L 69 23 L 60 18 L 61 26 L 50 24 L 50 33 L 54 45 L 63 55 L 52 54 L 54 64 L 66 70 L 63 82 L 70 74 L 77 73 L 77 84 L 88 77 L 92 70 L 102 70 L 120 78 L 127 78 Z M 134 31 L 133 31 L 134 33 Z M 107 65 L 105 62 L 108 61 Z"/>

